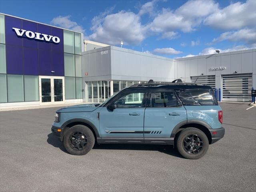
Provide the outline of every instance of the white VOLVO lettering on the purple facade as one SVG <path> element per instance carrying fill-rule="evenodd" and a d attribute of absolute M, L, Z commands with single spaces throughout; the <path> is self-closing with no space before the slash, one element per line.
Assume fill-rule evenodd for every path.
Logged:
<path fill-rule="evenodd" d="M 19 28 L 14 28 L 14 27 L 12 29 L 16 32 L 16 34 L 18 36 L 21 36 L 21 37 L 25 34 L 25 36 L 30 39 L 37 39 L 37 40 L 48 41 L 48 42 L 50 42 L 50 40 L 52 40 L 52 42 L 54 42 L 54 43 L 60 42 L 60 38 L 58 38 L 56 36 L 46 35 L 46 34 L 42 34 L 42 33 L 38 33 L 38 32 L 27 31 L 24 29 L 19 29 Z"/>

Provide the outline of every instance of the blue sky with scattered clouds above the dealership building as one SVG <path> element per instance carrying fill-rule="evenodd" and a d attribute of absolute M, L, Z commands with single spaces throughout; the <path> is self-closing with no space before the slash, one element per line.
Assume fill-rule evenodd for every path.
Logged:
<path fill-rule="evenodd" d="M 256 0 L 0 0 L 0 12 L 168 58 L 256 48 Z"/>

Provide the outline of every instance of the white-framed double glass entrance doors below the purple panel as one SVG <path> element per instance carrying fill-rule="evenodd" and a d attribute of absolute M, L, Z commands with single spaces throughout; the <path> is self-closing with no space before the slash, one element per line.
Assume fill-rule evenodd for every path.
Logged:
<path fill-rule="evenodd" d="M 64 87 L 64 77 L 39 76 L 40 104 L 64 103 Z"/>

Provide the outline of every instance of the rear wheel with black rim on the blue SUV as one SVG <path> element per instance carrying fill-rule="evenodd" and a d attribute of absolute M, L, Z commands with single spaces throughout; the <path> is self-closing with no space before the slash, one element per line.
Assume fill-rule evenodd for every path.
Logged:
<path fill-rule="evenodd" d="M 184 158 L 199 159 L 206 154 L 209 140 L 201 130 L 189 127 L 180 131 L 176 140 L 176 148 Z"/>

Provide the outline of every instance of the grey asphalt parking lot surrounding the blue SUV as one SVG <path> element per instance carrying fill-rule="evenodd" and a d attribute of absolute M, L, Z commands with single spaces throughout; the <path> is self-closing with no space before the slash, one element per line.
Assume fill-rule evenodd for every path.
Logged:
<path fill-rule="evenodd" d="M 51 133 L 57 108 L 0 112 L 0 191 L 256 191 L 256 107 L 220 106 L 226 134 L 199 160 L 132 144 L 72 156 Z"/>

